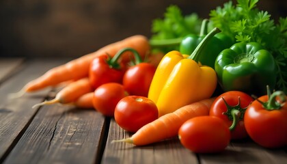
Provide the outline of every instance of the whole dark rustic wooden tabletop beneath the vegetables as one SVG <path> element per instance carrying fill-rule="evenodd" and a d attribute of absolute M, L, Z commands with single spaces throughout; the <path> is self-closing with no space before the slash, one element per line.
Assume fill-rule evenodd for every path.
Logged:
<path fill-rule="evenodd" d="M 28 81 L 69 60 L 0 58 L 0 163 L 287 163 L 286 147 L 270 150 L 250 139 L 232 141 L 219 154 L 194 154 L 177 137 L 141 147 L 111 143 L 132 134 L 94 109 L 31 108 L 53 98 L 57 92 L 53 88 L 8 98 Z"/>

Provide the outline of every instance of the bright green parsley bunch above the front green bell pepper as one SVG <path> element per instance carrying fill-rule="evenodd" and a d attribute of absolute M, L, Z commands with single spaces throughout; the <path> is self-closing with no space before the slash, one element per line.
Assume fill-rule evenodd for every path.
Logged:
<path fill-rule="evenodd" d="M 277 24 L 267 11 L 256 8 L 259 0 L 237 0 L 210 11 L 211 27 L 218 27 L 236 42 L 259 42 L 275 57 L 277 90 L 287 93 L 287 18 Z"/>

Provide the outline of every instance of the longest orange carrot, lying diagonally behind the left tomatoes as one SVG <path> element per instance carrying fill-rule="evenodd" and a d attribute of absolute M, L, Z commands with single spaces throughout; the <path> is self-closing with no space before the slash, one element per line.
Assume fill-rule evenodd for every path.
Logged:
<path fill-rule="evenodd" d="M 83 77 L 87 77 L 89 74 L 90 63 L 95 57 L 100 55 L 110 55 L 113 57 L 120 49 L 130 47 L 139 52 L 141 57 L 144 57 L 150 51 L 150 44 L 145 36 L 135 35 L 107 46 L 98 49 L 94 53 L 83 55 L 77 59 L 69 61 L 66 64 L 51 68 L 42 76 L 27 83 L 20 92 L 14 96 L 21 96 L 25 92 L 35 92 L 41 90 L 44 87 L 57 85 L 61 82 L 68 80 L 77 80 Z M 126 52 L 122 55 L 122 61 L 128 62 L 131 60 L 131 52 Z"/>

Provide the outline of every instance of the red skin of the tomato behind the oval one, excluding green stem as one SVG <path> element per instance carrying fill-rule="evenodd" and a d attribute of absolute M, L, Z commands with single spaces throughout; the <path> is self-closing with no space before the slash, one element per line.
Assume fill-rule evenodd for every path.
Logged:
<path fill-rule="evenodd" d="M 218 118 L 221 118 L 226 122 L 228 127 L 232 125 L 232 120 L 228 118 L 226 114 L 223 114 L 227 111 L 226 104 L 224 103 L 222 97 L 226 100 L 228 105 L 230 106 L 236 106 L 238 105 L 238 97 L 240 97 L 241 100 L 241 108 L 247 108 L 251 102 L 254 100 L 251 96 L 244 92 L 240 91 L 229 91 L 224 92 L 223 94 L 219 95 L 215 101 L 213 102 L 213 105 L 210 107 L 210 113 L 209 115 L 216 116 Z M 244 115 L 244 113 L 241 113 Z M 244 118 L 244 117 L 243 117 Z M 247 131 L 245 129 L 244 125 L 244 119 L 238 121 L 236 128 L 231 132 L 231 138 L 232 139 L 243 139 L 245 137 L 248 137 Z"/>

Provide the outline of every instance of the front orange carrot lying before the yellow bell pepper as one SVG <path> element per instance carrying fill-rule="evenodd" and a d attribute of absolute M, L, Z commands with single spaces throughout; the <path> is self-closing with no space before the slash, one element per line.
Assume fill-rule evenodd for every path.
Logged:
<path fill-rule="evenodd" d="M 136 146 L 143 146 L 174 137 L 178 135 L 180 126 L 190 118 L 208 115 L 214 100 L 215 98 L 209 98 L 181 107 L 173 113 L 163 115 L 157 120 L 141 127 L 132 137 L 112 142 L 126 142 L 133 143 Z"/>

